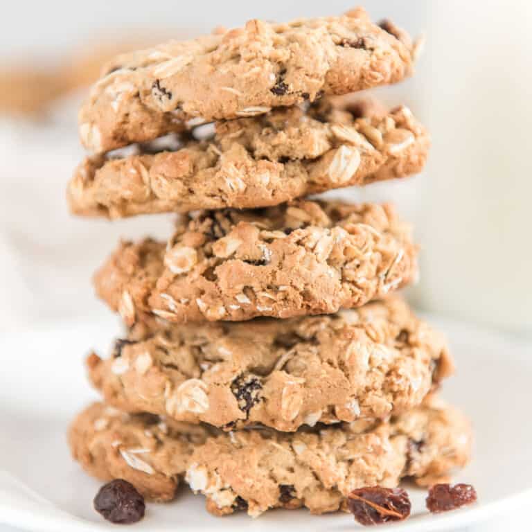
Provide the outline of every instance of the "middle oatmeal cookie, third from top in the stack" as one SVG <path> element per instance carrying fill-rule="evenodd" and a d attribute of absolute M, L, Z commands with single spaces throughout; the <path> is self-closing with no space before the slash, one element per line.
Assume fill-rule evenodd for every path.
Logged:
<path fill-rule="evenodd" d="M 168 244 L 123 242 L 96 292 L 128 326 L 332 314 L 414 281 L 417 247 L 389 204 L 297 201 L 183 216 Z"/>

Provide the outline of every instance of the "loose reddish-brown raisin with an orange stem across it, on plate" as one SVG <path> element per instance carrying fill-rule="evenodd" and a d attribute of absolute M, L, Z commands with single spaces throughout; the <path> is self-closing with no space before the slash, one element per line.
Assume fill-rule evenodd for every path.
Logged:
<path fill-rule="evenodd" d="M 360 524 L 402 521 L 410 515 L 410 499 L 402 488 L 358 488 L 347 498 L 349 511 Z"/>

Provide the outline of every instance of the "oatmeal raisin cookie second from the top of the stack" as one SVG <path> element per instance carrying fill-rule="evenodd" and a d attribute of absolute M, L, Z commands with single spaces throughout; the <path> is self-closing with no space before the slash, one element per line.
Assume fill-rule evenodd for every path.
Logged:
<path fill-rule="evenodd" d="M 360 117 L 364 103 L 341 101 L 218 122 L 203 141 L 87 157 L 69 183 L 71 211 L 122 218 L 246 209 L 420 172 L 429 136 L 407 107 Z"/>

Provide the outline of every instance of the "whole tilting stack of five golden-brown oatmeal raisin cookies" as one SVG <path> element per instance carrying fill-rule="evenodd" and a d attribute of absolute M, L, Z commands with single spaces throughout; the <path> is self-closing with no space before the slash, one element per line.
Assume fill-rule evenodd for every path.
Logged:
<path fill-rule="evenodd" d="M 357 8 L 219 30 L 107 64 L 80 111 L 73 213 L 181 213 L 94 278 L 127 332 L 87 360 L 103 402 L 69 433 L 91 475 L 215 515 L 346 509 L 355 488 L 447 478 L 468 421 L 434 395 L 438 332 L 394 292 L 418 248 L 390 204 L 305 199 L 419 172 L 426 130 L 355 91 L 409 76 L 417 46 Z M 127 146 L 127 149 L 118 150 Z"/>

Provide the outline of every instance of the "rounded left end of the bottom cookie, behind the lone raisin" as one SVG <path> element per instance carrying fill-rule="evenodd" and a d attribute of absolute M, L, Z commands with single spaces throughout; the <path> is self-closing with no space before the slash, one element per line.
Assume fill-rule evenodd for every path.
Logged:
<path fill-rule="evenodd" d="M 145 497 L 168 501 L 190 454 L 209 434 L 208 427 L 166 423 L 151 414 L 129 416 L 95 402 L 73 421 L 69 445 L 73 458 L 93 477 L 125 479 Z"/>

